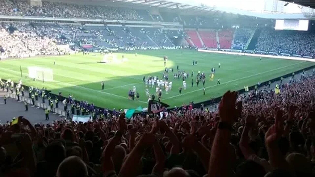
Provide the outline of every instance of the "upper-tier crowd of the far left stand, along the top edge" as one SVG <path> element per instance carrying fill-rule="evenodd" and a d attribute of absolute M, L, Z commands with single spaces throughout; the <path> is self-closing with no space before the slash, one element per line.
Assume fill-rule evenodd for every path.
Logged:
<path fill-rule="evenodd" d="M 93 5 L 43 2 L 43 6 L 30 6 L 24 1 L 0 1 L 0 15 L 91 18 L 110 20 L 142 20 L 133 9 Z"/>

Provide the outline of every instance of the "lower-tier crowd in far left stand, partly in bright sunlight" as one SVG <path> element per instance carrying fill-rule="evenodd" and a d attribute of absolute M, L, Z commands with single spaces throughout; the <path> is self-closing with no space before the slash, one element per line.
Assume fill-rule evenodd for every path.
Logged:
<path fill-rule="evenodd" d="M 79 48 L 84 44 L 93 45 L 89 50 L 174 48 L 163 31 L 152 30 L 154 43 L 146 36 L 150 34 L 146 29 L 138 30 L 105 26 L 93 28 L 80 24 L 2 22 L 0 53 L 1 58 L 62 54 L 57 45 L 70 43 Z"/>

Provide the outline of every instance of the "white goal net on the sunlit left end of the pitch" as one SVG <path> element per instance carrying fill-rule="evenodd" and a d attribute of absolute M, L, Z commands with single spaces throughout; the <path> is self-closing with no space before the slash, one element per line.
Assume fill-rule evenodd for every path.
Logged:
<path fill-rule="evenodd" d="M 37 66 L 28 67 L 28 77 L 40 81 L 53 81 L 53 70 Z"/>

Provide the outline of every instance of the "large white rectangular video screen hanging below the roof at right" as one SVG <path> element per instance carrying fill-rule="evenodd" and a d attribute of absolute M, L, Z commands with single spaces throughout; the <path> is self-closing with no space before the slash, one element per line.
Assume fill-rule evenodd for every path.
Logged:
<path fill-rule="evenodd" d="M 307 31 L 308 20 L 276 20 L 275 29 Z"/>

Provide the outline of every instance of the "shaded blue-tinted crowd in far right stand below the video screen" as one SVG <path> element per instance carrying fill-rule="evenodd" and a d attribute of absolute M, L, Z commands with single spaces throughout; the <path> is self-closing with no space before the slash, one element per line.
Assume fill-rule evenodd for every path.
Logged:
<path fill-rule="evenodd" d="M 313 56 L 314 33 L 308 31 L 286 31 L 264 28 L 256 44 L 257 51 Z"/>

